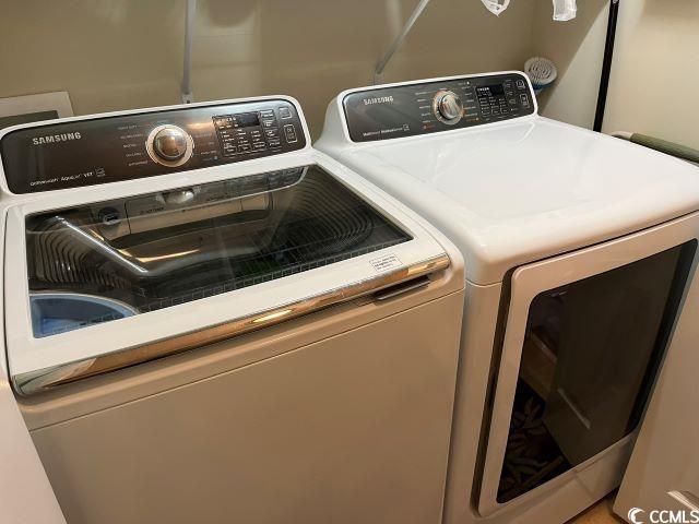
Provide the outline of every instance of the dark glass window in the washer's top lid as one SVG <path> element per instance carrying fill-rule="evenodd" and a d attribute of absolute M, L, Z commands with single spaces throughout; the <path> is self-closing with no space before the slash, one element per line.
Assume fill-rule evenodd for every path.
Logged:
<path fill-rule="evenodd" d="M 407 240 L 318 166 L 31 215 L 34 336 L 234 291 Z"/>

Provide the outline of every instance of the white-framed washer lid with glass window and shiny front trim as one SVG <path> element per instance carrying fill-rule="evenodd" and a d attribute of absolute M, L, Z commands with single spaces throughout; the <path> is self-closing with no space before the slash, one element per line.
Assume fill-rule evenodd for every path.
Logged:
<path fill-rule="evenodd" d="M 4 258 L 16 391 L 201 347 L 450 265 L 428 229 L 343 171 L 310 152 L 200 171 L 186 187 L 175 186 L 193 181 L 183 174 L 22 199 L 8 210 Z M 457 257 L 443 293 L 463 285 Z"/>

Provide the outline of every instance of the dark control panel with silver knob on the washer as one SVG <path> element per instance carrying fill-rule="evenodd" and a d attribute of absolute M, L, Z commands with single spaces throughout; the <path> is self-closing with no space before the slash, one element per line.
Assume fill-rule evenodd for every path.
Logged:
<path fill-rule="evenodd" d="M 306 146 L 286 99 L 211 104 L 27 127 L 0 141 L 8 188 L 34 193 L 132 180 Z"/>

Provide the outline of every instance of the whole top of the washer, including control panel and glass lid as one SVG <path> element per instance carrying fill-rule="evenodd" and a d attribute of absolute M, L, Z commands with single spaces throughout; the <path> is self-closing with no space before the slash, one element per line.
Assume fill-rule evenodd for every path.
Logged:
<path fill-rule="evenodd" d="M 463 271 L 439 231 L 311 148 L 288 97 L 33 123 L 0 147 L 20 393 Z"/>

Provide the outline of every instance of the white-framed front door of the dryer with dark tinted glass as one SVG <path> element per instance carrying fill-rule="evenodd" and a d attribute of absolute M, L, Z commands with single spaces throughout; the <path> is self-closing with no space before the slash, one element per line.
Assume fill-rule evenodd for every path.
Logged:
<path fill-rule="evenodd" d="M 691 215 L 518 269 L 479 511 L 618 486 L 697 248 Z"/>

